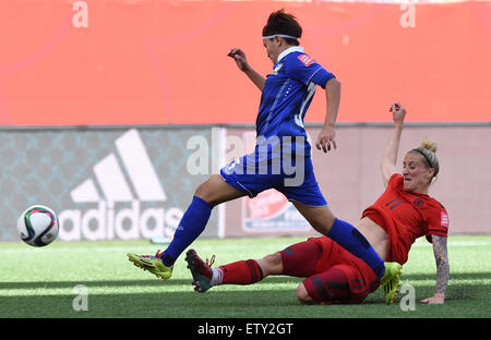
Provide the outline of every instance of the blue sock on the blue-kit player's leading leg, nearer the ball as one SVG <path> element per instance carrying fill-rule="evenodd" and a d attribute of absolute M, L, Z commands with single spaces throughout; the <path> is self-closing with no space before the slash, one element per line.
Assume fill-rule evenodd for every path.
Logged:
<path fill-rule="evenodd" d="M 173 239 L 161 255 L 165 266 L 170 267 L 181 253 L 203 232 L 212 214 L 212 206 L 194 196 L 179 222 Z"/>

